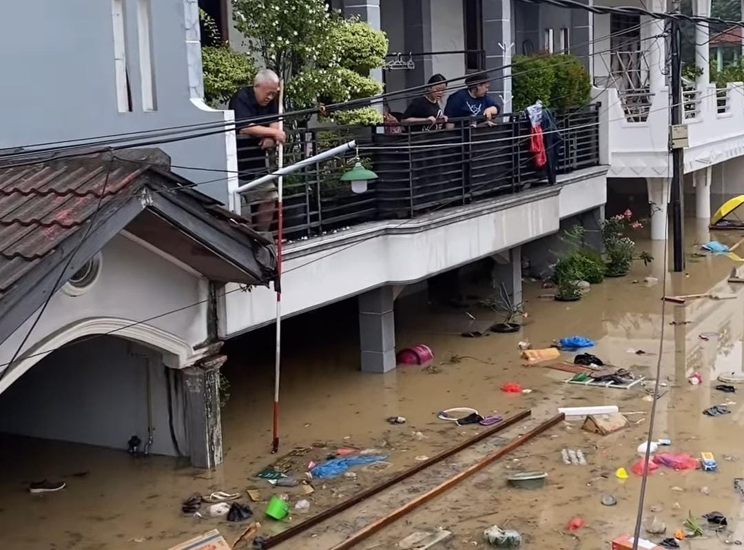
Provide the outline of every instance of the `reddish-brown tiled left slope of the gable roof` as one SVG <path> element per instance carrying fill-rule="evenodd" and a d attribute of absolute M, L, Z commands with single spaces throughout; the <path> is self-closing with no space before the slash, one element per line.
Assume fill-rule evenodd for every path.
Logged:
<path fill-rule="evenodd" d="M 0 167 L 0 293 L 54 252 L 147 170 L 124 162 L 104 167 L 100 159 L 68 159 Z"/>

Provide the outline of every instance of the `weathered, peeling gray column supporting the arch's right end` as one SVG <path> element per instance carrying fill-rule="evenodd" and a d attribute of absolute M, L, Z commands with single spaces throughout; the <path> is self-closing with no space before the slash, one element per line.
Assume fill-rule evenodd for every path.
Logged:
<path fill-rule="evenodd" d="M 219 416 L 219 368 L 225 355 L 213 355 L 180 371 L 185 394 L 186 437 L 191 464 L 222 464 L 222 421 Z"/>

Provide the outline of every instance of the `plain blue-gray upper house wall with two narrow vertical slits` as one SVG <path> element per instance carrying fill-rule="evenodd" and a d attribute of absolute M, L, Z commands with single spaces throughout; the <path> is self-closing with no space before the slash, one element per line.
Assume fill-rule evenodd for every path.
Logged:
<path fill-rule="evenodd" d="M 112 6 L 124 5 L 126 67 L 132 112 L 119 112 Z M 150 49 L 156 106 L 143 109 L 138 5 L 150 5 Z M 33 32 L 29 25 L 33 25 Z M 142 32 L 140 32 L 142 31 Z M 0 120 L 11 132 L 0 149 L 124 132 L 224 121 L 228 113 L 202 101 L 202 64 L 196 0 L 24 0 L 4 2 L 0 17 Z M 143 48 L 144 52 L 144 48 Z M 12 83 L 12 85 L 11 85 Z M 231 113 L 229 114 L 231 117 Z M 208 130 L 214 131 L 214 129 Z M 235 170 L 227 135 L 161 144 L 173 164 Z M 176 169 L 228 203 L 224 172 Z M 237 180 L 229 185 L 237 187 Z"/>

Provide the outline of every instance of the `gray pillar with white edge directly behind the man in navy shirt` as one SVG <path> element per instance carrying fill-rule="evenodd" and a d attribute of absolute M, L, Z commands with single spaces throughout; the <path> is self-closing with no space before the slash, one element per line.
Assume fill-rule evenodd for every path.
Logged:
<path fill-rule="evenodd" d="M 490 71 L 491 91 L 502 112 L 511 112 L 511 65 L 514 40 L 511 28 L 511 2 L 483 2 L 483 49 Z"/>

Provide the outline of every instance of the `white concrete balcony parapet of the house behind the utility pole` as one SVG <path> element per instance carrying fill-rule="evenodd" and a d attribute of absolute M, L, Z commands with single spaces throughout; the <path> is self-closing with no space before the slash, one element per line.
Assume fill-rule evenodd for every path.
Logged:
<path fill-rule="evenodd" d="M 652 96 L 643 121 L 631 121 L 618 90 L 595 89 L 600 97 L 600 159 L 609 177 L 667 178 L 669 167 L 669 89 Z M 744 85 L 725 89 L 710 84 L 684 92 L 684 123 L 690 147 L 684 150 L 684 173 L 744 155 Z M 638 117 L 635 117 L 637 120 Z"/>

